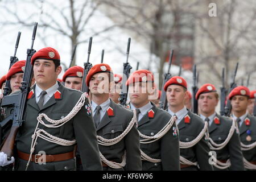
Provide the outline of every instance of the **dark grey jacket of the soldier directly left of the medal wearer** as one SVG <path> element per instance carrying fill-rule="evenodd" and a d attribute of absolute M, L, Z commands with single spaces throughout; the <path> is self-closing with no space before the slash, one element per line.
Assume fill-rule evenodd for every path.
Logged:
<path fill-rule="evenodd" d="M 209 129 L 209 137 L 214 143 L 221 144 L 228 137 L 229 130 L 232 126 L 232 119 L 228 117 L 222 117 L 216 114 L 213 118 L 213 122 Z M 231 166 L 227 169 L 219 169 L 214 167 L 214 170 L 232 170 L 232 171 L 243 171 L 243 155 L 241 151 L 240 137 L 237 129 L 234 131 L 228 144 L 221 150 L 216 151 L 217 160 L 222 163 L 226 163 L 226 160 L 230 159 Z"/>

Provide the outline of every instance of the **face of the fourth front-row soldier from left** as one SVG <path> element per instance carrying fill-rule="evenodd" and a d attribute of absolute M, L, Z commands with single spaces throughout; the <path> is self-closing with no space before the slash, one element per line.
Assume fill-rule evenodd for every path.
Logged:
<path fill-rule="evenodd" d="M 166 90 L 167 102 L 172 107 L 184 106 L 184 98 L 187 91 L 180 85 L 169 85 Z"/>

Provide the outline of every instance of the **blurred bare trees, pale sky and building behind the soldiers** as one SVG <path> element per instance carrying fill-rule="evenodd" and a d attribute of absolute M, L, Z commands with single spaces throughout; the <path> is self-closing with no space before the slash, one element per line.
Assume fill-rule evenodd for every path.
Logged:
<path fill-rule="evenodd" d="M 73 65 L 83 67 L 88 40 L 93 36 L 90 62 L 100 63 L 104 49 L 104 63 L 122 74 L 130 37 L 131 72 L 139 62 L 139 69 L 158 73 L 159 89 L 170 49 L 174 49 L 171 74 L 179 75 L 181 67 L 189 90 L 194 64 L 198 86 L 208 82 L 219 89 L 222 68 L 228 87 L 237 62 L 237 85 L 256 88 L 254 0 L 0 0 L 0 12 L 0 76 L 7 73 L 18 31 L 22 34 L 16 56 L 26 59 L 34 22 L 38 22 L 34 49 L 56 48 L 63 70 L 69 66 L 75 44 Z"/>

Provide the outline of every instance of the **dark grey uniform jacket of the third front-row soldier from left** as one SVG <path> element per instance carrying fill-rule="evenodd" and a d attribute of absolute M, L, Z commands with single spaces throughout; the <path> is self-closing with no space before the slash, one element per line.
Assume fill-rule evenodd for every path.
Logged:
<path fill-rule="evenodd" d="M 138 130 L 142 134 L 152 137 L 166 126 L 171 115 L 156 107 L 154 103 L 150 103 L 151 109 L 138 121 Z M 131 107 L 130 104 L 128 107 Z M 161 159 L 159 163 L 142 160 L 143 171 L 180 170 L 179 134 L 175 123 L 159 140 L 148 144 L 141 143 L 141 150 L 151 158 Z"/>

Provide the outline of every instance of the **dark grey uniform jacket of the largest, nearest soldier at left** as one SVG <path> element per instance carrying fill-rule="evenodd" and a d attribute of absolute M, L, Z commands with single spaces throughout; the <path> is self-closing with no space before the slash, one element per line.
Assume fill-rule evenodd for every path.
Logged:
<path fill-rule="evenodd" d="M 40 110 L 35 101 L 34 89 L 32 87 L 28 94 L 28 100 L 26 104 L 26 110 L 24 112 L 24 122 L 20 127 L 16 136 L 16 152 L 18 154 L 29 155 L 31 148 L 32 134 L 37 124 L 37 117 L 40 113 L 47 114 L 51 119 L 62 119 L 67 116 L 76 102 L 81 97 L 81 92 L 65 88 L 58 82 L 59 88 L 55 94 L 46 102 L 43 108 Z M 18 91 L 20 92 L 20 91 Z M 92 117 L 88 114 L 88 100 L 85 100 L 84 106 L 81 110 L 73 117 L 70 121 L 65 123 L 61 127 L 48 128 L 39 124 L 39 128 L 46 130 L 47 133 L 63 138 L 66 140 L 77 140 L 77 145 L 80 148 L 82 166 L 85 170 L 101 170 L 100 155 L 98 150 L 98 144 L 96 139 L 96 130 L 93 123 Z M 10 109 L 9 109 L 10 112 Z M 10 113 L 8 113 L 10 114 Z M 45 119 L 45 123 L 50 124 Z M 33 154 L 38 154 L 39 151 L 46 152 L 46 155 L 65 154 L 68 152 L 74 152 L 76 145 L 72 146 L 61 146 L 56 143 L 48 142 L 38 138 L 35 151 Z M 46 164 L 38 164 L 30 162 L 28 170 L 75 170 L 76 159 L 61 160 L 57 162 L 47 162 Z M 27 160 L 23 160 L 15 156 L 15 169 L 24 170 L 26 168 Z"/>

